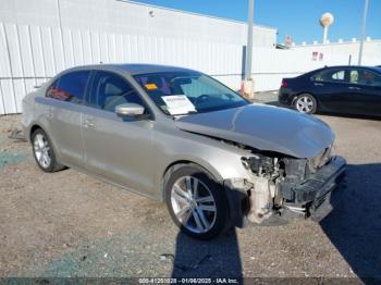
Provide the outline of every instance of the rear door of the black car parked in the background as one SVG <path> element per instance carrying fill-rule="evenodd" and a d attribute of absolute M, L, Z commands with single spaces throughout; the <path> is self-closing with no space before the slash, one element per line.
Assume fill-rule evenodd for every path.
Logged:
<path fill-rule="evenodd" d="M 346 69 L 325 69 L 312 75 L 311 80 L 320 110 L 348 111 Z"/>

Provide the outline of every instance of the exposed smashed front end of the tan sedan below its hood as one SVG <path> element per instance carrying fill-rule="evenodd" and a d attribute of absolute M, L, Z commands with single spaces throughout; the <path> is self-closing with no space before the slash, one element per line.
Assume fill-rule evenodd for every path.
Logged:
<path fill-rule="evenodd" d="M 331 146 L 312 159 L 268 152 L 243 157 L 242 163 L 250 179 L 224 182 L 236 226 L 295 216 L 322 220 L 332 210 L 331 191 L 346 165 L 343 158 L 331 156 Z"/>

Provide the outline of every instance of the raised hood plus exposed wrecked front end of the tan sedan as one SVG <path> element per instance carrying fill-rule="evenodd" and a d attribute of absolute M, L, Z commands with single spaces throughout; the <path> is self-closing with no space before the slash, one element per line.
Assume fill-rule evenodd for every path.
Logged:
<path fill-rule="evenodd" d="M 266 224 L 274 218 L 321 220 L 330 212 L 330 194 L 346 162 L 331 154 L 334 134 L 321 120 L 250 104 L 182 116 L 175 124 L 239 148 L 245 178 L 224 181 L 234 225 Z"/>

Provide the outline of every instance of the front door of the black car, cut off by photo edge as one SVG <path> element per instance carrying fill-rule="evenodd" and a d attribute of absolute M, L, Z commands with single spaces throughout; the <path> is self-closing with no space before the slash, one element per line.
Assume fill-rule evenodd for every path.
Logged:
<path fill-rule="evenodd" d="M 348 71 L 348 96 L 352 113 L 381 115 L 381 75 L 365 69 Z"/>

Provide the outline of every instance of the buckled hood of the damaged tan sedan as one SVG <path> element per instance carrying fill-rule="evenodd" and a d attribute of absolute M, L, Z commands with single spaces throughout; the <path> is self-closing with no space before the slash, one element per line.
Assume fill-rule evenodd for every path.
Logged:
<path fill-rule="evenodd" d="M 334 140 L 329 125 L 319 119 L 266 104 L 182 116 L 175 125 L 182 131 L 295 158 L 316 157 Z"/>

